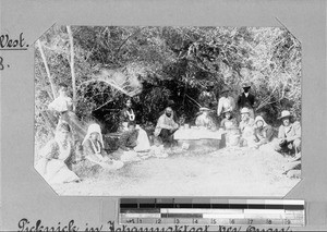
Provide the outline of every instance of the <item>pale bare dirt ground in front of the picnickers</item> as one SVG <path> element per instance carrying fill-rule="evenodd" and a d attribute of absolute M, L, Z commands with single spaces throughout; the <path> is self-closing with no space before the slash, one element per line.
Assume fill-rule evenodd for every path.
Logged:
<path fill-rule="evenodd" d="M 171 150 L 167 158 L 152 157 L 52 187 L 59 195 L 280 197 L 300 182 L 282 174 L 286 163 L 281 155 L 264 149 Z"/>

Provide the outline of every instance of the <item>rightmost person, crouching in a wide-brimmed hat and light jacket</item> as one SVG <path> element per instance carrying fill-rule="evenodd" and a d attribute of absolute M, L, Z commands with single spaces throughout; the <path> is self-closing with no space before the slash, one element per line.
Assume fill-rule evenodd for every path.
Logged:
<path fill-rule="evenodd" d="M 281 115 L 278 118 L 281 120 L 281 125 L 278 130 L 278 144 L 275 150 L 281 154 L 301 151 L 301 124 L 300 122 L 291 122 L 292 114 L 288 110 L 281 111 Z"/>

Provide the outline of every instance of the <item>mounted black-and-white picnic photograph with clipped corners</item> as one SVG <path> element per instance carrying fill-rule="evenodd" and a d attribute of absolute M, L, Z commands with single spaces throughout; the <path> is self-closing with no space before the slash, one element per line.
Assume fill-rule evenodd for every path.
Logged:
<path fill-rule="evenodd" d="M 35 42 L 34 168 L 61 196 L 283 197 L 301 57 L 286 27 L 55 25 Z"/>

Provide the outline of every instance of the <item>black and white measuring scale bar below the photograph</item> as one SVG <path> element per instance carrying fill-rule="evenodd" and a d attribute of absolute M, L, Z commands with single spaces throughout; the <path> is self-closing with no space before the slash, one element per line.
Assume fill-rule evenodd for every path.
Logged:
<path fill-rule="evenodd" d="M 132 206 L 132 207 L 131 207 Z M 121 199 L 122 224 L 305 225 L 304 200 Z"/>

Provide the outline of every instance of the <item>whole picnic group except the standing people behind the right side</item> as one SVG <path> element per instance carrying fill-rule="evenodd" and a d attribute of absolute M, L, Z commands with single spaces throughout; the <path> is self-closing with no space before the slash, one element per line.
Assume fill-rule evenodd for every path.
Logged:
<path fill-rule="evenodd" d="M 132 101 L 129 99 L 125 102 L 125 108 L 121 111 L 119 149 L 108 155 L 105 150 L 100 125 L 89 124 L 85 133 L 85 129 L 81 126 L 76 115 L 71 110 L 72 100 L 66 95 L 68 86 L 61 84 L 59 87 L 59 97 L 49 105 L 49 109 L 59 113 L 59 122 L 53 139 L 41 149 L 40 159 L 37 163 L 37 170 L 48 182 L 78 182 L 81 179 L 73 171 L 76 164 L 84 166 L 86 169 L 100 167 L 107 170 L 118 170 L 126 161 L 141 160 L 142 155 L 140 154 L 154 151 L 152 148 L 157 149 L 159 147 L 157 145 L 164 148 L 164 146 L 171 146 L 174 143 L 173 134 L 180 125 L 177 123 L 174 112 L 170 107 L 165 109 L 157 121 L 154 131 L 154 144 L 156 146 L 152 147 L 147 133 L 135 123 L 135 113 L 132 109 Z M 215 125 L 209 111 L 207 108 L 201 108 L 195 124 L 217 130 L 218 126 Z M 231 109 L 225 109 L 222 114 L 220 127 L 226 134 L 227 146 L 258 148 L 272 141 L 274 129 L 261 115 L 253 119 L 251 110 L 246 107 L 241 110 L 240 122 Z M 291 113 L 287 110 L 282 111 L 279 118 L 282 123 L 279 127 L 278 143 L 275 143 L 275 150 L 279 152 L 289 152 L 290 150 L 294 150 L 295 154 L 300 152 L 301 126 L 299 122 L 291 122 Z M 76 134 L 86 134 L 80 148 L 75 143 Z"/>

